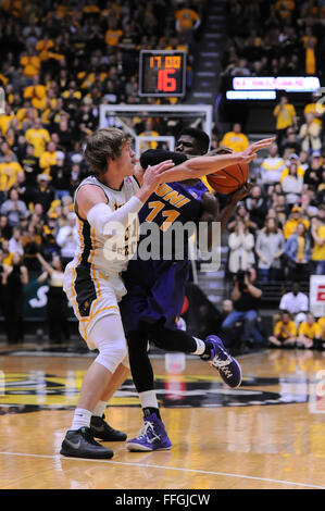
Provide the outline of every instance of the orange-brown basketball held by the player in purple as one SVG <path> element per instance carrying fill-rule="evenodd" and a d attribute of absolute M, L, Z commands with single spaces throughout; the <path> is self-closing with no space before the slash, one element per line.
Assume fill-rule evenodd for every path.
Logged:
<path fill-rule="evenodd" d="M 238 190 L 249 178 L 249 166 L 247 163 L 229 165 L 215 174 L 207 176 L 207 180 L 215 191 L 228 195 Z"/>

